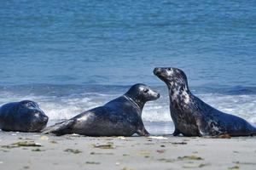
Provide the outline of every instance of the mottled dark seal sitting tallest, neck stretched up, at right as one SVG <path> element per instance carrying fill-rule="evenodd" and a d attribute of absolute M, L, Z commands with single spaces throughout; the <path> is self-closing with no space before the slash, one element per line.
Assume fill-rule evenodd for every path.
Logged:
<path fill-rule="evenodd" d="M 169 89 L 170 111 L 174 122 L 174 136 L 249 136 L 256 127 L 241 117 L 218 111 L 195 97 L 190 91 L 185 73 L 177 68 L 155 68 Z"/>

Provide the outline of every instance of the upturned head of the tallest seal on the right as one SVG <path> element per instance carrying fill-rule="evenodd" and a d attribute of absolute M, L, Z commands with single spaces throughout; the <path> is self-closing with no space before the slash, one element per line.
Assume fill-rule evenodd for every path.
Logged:
<path fill-rule="evenodd" d="M 154 75 L 159 77 L 171 89 L 188 89 L 188 80 L 185 73 L 177 68 L 154 68 Z"/>

